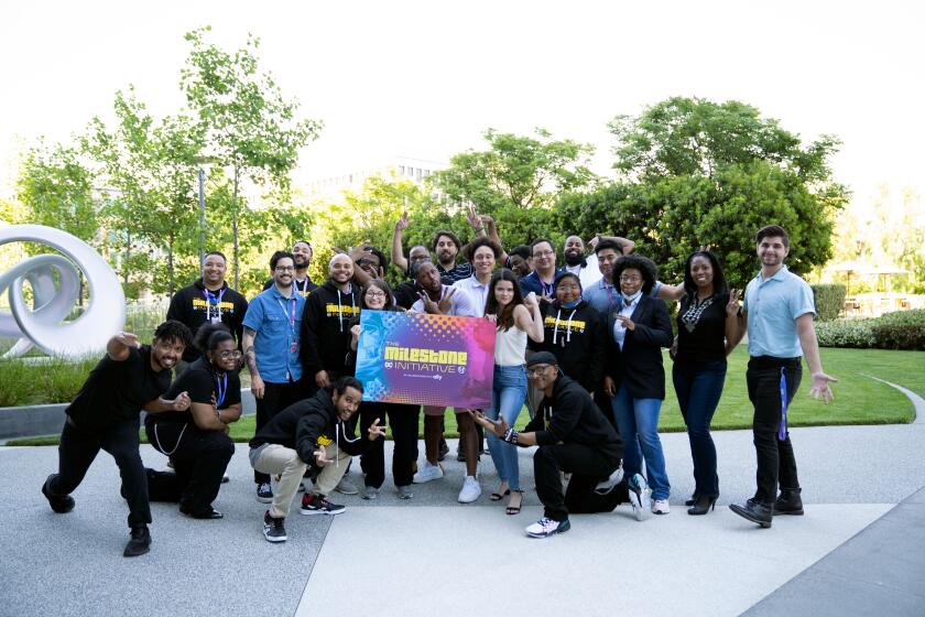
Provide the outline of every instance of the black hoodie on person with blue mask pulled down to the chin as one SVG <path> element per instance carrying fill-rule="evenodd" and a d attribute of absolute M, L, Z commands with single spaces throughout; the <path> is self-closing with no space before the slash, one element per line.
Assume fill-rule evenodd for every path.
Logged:
<path fill-rule="evenodd" d="M 551 351 L 562 371 L 594 392 L 603 380 L 607 337 L 597 308 L 581 300 L 574 308 L 556 301 L 543 303 L 543 343 L 530 340 L 534 351 Z"/>

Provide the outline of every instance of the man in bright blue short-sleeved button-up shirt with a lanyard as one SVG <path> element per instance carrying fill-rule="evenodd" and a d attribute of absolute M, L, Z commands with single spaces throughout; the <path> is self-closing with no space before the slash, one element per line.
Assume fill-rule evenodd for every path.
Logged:
<path fill-rule="evenodd" d="M 257 401 L 257 431 L 302 398 L 298 347 L 305 299 L 292 284 L 295 275 L 293 255 L 274 252 L 270 258 L 270 270 L 273 286 L 251 300 L 244 316 L 244 359 L 251 374 L 251 393 Z M 257 500 L 261 504 L 272 501 L 270 476 L 254 472 L 253 481 L 257 483 Z"/>

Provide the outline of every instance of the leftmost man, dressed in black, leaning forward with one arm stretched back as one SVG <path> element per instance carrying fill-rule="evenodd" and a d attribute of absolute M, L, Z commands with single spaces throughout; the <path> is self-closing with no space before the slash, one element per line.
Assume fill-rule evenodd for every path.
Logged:
<path fill-rule="evenodd" d="M 74 509 L 70 492 L 80 485 L 96 455 L 100 450 L 111 454 L 122 477 L 122 497 L 129 504 L 131 539 L 122 553 L 127 558 L 144 554 L 151 546 L 148 477 L 138 452 L 139 412 L 189 408 L 186 392 L 172 401 L 161 396 L 170 388 L 171 369 L 191 342 L 189 328 L 177 321 L 157 326 L 150 346 L 128 333 L 110 338 L 106 357 L 90 371 L 65 410 L 58 473 L 48 476 L 42 486 L 52 510 L 69 512 Z"/>

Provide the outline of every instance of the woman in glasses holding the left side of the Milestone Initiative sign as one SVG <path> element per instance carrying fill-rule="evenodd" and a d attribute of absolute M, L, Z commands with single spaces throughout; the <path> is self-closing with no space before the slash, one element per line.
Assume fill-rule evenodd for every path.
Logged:
<path fill-rule="evenodd" d="M 389 283 L 382 279 L 371 279 L 360 292 L 360 315 L 366 311 L 403 311 L 395 306 L 394 294 Z M 360 317 L 351 322 L 350 353 L 347 364 L 355 372 L 357 368 L 357 345 L 359 344 Z M 417 461 L 417 422 L 420 407 L 363 401 L 360 403 L 360 434 L 366 435 L 369 427 L 379 419 L 379 424 L 392 427 L 392 478 L 399 491 L 400 499 L 411 499 L 412 478 L 414 477 L 414 462 Z M 379 489 L 385 481 L 385 440 L 376 440 L 372 446 L 360 457 L 360 468 L 363 470 L 366 488 L 363 499 L 376 499 Z"/>

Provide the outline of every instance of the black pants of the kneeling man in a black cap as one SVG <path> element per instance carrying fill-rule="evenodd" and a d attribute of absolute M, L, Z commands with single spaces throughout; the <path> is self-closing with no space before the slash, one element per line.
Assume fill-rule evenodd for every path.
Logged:
<path fill-rule="evenodd" d="M 580 504 L 587 497 L 585 487 L 589 487 L 589 492 L 619 465 L 619 447 L 576 443 L 540 446 L 533 454 L 533 475 L 536 496 L 543 502 L 543 516 L 556 521 L 568 519 L 569 508 L 562 491 L 562 472 L 572 473 L 568 490 L 575 491 L 573 500 Z"/>

